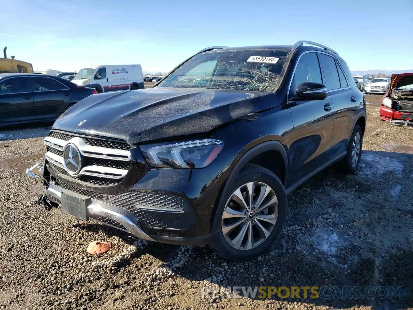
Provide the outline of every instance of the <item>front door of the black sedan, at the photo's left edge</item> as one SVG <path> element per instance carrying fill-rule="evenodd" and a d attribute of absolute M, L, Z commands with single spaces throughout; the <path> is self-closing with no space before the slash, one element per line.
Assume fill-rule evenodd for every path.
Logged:
<path fill-rule="evenodd" d="M 29 76 L 0 80 L 0 123 L 35 119 Z"/>

